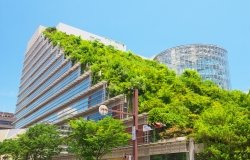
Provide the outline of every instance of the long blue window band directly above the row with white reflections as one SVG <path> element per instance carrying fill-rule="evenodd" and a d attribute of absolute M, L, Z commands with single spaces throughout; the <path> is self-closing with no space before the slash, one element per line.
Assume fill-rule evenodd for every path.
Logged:
<path fill-rule="evenodd" d="M 53 99 L 52 101 L 50 101 L 49 103 L 44 105 L 42 108 L 40 108 L 37 111 L 35 111 L 34 113 L 32 113 L 31 115 L 29 115 L 26 118 L 17 122 L 16 127 L 19 128 L 19 127 L 23 127 L 23 126 L 27 125 L 28 123 L 32 122 L 35 118 L 42 116 L 42 115 L 58 108 L 59 106 L 63 105 L 64 103 L 68 102 L 74 96 L 76 96 L 82 92 L 85 92 L 89 87 L 90 87 L 90 79 L 87 78 L 83 82 L 79 83 L 78 85 L 74 86 L 70 90 L 64 92 L 63 94 L 61 94 L 57 98 Z"/>

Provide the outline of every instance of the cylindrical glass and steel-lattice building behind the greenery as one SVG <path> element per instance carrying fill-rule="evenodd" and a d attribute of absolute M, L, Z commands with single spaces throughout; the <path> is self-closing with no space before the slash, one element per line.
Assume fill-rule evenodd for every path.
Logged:
<path fill-rule="evenodd" d="M 185 69 L 197 70 L 203 79 L 230 89 L 227 51 L 216 45 L 191 44 L 167 49 L 155 60 L 181 74 Z"/>

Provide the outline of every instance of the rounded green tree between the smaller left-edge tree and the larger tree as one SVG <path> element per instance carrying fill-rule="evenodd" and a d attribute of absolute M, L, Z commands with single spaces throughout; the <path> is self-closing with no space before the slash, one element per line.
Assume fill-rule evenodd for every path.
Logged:
<path fill-rule="evenodd" d="M 50 160 L 60 153 L 61 138 L 56 126 L 37 124 L 19 137 L 24 159 Z"/>

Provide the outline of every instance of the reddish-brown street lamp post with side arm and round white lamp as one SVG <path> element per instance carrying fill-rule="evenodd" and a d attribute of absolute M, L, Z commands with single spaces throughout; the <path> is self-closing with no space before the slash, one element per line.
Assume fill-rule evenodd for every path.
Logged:
<path fill-rule="evenodd" d="M 132 140 L 133 140 L 133 160 L 138 160 L 138 142 L 137 142 L 137 131 L 138 131 L 138 89 L 134 89 L 133 94 L 133 113 L 126 113 L 122 111 L 108 109 L 107 106 L 101 105 L 99 107 L 99 113 L 102 115 L 108 114 L 108 112 L 122 113 L 133 116 L 132 126 Z"/>

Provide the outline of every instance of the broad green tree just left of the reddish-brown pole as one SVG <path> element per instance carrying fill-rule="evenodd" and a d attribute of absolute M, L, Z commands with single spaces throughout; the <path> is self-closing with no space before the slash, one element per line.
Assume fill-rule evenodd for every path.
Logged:
<path fill-rule="evenodd" d="M 106 117 L 100 121 L 71 120 L 69 150 L 80 160 L 100 160 L 115 147 L 128 144 L 130 135 L 120 120 Z"/>

